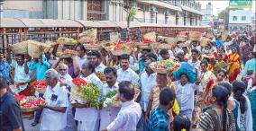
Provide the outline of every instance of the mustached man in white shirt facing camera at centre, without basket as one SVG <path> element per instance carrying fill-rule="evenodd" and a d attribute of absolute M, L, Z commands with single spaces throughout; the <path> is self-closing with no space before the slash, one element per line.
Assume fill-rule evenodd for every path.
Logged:
<path fill-rule="evenodd" d="M 123 54 L 120 57 L 121 69 L 117 70 L 117 82 L 129 81 L 133 84 L 139 84 L 140 77 L 129 66 L 129 55 Z"/>

